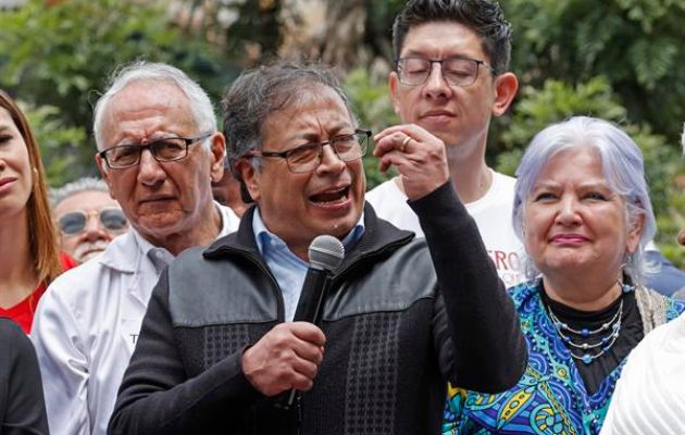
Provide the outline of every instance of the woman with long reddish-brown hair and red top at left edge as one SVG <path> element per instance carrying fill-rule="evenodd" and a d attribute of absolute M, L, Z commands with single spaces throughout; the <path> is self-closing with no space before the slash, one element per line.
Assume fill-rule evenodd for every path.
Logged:
<path fill-rule="evenodd" d="M 26 117 L 0 90 L 0 316 L 30 332 L 38 299 L 63 270 L 40 150 Z"/>

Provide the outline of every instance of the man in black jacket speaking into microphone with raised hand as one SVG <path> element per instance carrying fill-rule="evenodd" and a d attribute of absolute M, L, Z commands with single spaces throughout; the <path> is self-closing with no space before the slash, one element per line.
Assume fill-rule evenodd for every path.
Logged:
<path fill-rule="evenodd" d="M 518 381 L 519 321 L 444 146 L 406 126 L 376 148 L 403 177 L 416 240 L 364 203 L 371 133 L 328 71 L 249 71 L 223 107 L 257 206 L 162 274 L 110 434 L 436 434 L 446 381 L 487 393 Z M 315 279 L 321 235 L 345 254 Z"/>

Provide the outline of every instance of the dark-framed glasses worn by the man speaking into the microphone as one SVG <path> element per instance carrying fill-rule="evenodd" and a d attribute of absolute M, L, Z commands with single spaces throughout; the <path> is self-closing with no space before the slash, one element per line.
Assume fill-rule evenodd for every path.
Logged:
<path fill-rule="evenodd" d="M 366 154 L 370 137 L 371 132 L 356 129 L 351 135 L 336 136 L 324 142 L 301 145 L 281 152 L 252 150 L 248 152 L 247 157 L 275 157 L 285 159 L 290 172 L 303 174 L 319 167 L 323 158 L 323 147 L 326 145 L 329 145 L 338 159 L 344 162 L 361 159 Z"/>

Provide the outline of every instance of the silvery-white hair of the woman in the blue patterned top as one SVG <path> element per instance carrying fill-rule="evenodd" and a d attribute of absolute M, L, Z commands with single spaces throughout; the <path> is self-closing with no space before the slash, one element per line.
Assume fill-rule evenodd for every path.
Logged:
<path fill-rule="evenodd" d="M 645 260 L 645 246 L 657 232 L 649 188 L 645 179 L 643 153 L 628 135 L 607 121 L 574 116 L 547 126 L 533 138 L 516 170 L 512 212 L 514 232 L 523 240 L 524 203 L 533 192 L 535 183 L 549 159 L 561 150 L 582 147 L 589 147 L 598 152 L 607 184 L 624 199 L 631 226 L 628 231 L 636 225 L 640 215 L 645 217 L 636 251 L 624 254 L 624 272 L 634 283 L 643 284 L 645 274 L 651 272 Z M 527 264 L 526 269 L 528 277 L 539 273 L 533 264 Z"/>

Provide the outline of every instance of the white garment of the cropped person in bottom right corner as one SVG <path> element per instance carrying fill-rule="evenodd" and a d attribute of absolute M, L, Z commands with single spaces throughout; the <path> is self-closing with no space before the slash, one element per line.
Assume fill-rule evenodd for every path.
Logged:
<path fill-rule="evenodd" d="M 600 434 L 685 434 L 685 314 L 633 349 Z"/>

